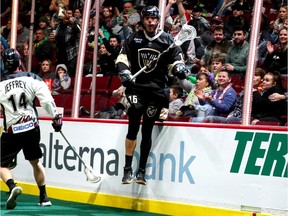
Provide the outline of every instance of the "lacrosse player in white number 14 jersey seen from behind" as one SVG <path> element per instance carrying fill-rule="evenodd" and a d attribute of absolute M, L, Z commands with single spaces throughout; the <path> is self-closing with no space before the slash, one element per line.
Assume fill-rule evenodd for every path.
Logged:
<path fill-rule="evenodd" d="M 1 136 L 1 179 L 10 190 L 6 201 L 7 209 L 16 207 L 16 199 L 22 188 L 16 186 L 9 165 L 23 150 L 26 160 L 33 167 L 34 178 L 40 191 L 39 205 L 51 206 L 45 188 L 45 171 L 39 159 L 40 129 L 35 108 L 35 97 L 41 106 L 53 116 L 52 126 L 56 132 L 62 127 L 61 115 L 57 112 L 54 99 L 45 82 L 30 72 L 15 72 L 20 66 L 20 55 L 15 49 L 6 49 L 3 54 L 4 68 L 7 70 L 0 82 L 0 104 L 4 115 L 4 132 Z"/>

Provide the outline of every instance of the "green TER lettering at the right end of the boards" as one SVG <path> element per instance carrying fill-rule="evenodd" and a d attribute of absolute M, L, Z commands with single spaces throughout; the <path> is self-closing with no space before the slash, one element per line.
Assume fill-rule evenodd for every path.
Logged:
<path fill-rule="evenodd" d="M 287 178 L 287 137 L 288 134 L 237 132 L 238 145 L 230 172 L 239 173 L 242 167 L 245 174 Z"/>

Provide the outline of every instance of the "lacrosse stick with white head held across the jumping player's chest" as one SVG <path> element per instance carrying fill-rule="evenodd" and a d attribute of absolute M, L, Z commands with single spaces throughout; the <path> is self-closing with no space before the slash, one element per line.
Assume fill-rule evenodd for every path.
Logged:
<path fill-rule="evenodd" d="M 139 76 L 144 70 L 149 68 L 152 64 L 158 61 L 158 59 L 163 55 L 163 53 L 167 53 L 172 47 L 174 46 L 180 46 L 182 45 L 185 41 L 188 40 L 193 40 L 197 36 L 197 31 L 196 29 L 188 25 L 187 23 L 184 24 L 180 30 L 180 32 L 174 37 L 174 42 L 166 49 L 164 50 L 157 58 L 153 59 L 148 65 L 145 65 L 143 68 L 141 68 L 137 73 L 135 73 L 132 77 L 131 80 L 134 80 L 137 76 Z"/>

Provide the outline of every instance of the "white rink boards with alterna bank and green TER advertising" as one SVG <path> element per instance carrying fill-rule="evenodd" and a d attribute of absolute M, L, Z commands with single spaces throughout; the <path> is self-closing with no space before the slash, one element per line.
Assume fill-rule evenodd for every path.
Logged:
<path fill-rule="evenodd" d="M 83 165 L 51 121 L 42 120 L 41 148 L 47 185 L 95 193 L 212 205 L 252 206 L 288 212 L 287 131 L 157 125 L 147 185 L 122 185 L 127 123 L 64 121 L 63 134 L 102 180 L 86 182 Z M 141 134 L 133 159 L 136 171 Z M 17 181 L 34 183 L 18 158 Z"/>

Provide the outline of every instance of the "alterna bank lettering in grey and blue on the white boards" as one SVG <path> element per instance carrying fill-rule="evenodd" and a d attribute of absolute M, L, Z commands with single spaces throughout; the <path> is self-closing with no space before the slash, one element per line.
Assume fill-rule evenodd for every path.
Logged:
<path fill-rule="evenodd" d="M 40 144 L 43 152 L 43 166 L 47 168 L 56 168 L 57 170 L 66 169 L 68 171 L 79 171 L 83 169 L 83 165 L 76 157 L 70 146 L 60 143 L 59 140 L 53 139 L 53 133 L 50 133 L 49 144 Z M 193 155 L 187 155 L 185 152 L 184 141 L 180 142 L 179 155 L 172 153 L 155 154 L 150 152 L 149 162 L 147 163 L 147 180 L 169 180 L 171 182 L 189 182 L 194 184 L 191 174 L 191 164 L 195 159 Z M 78 154 L 94 169 L 100 170 L 101 174 L 105 173 L 110 176 L 118 176 L 119 168 L 122 171 L 123 164 L 119 164 L 119 152 L 116 149 L 104 151 L 101 148 L 79 147 L 76 149 Z M 185 157 L 184 157 L 185 152 Z M 139 153 L 135 151 L 134 156 L 139 162 Z M 121 155 L 123 157 L 123 155 Z M 134 164 L 138 167 L 137 164 Z M 157 171 L 157 172 L 156 172 Z"/>

